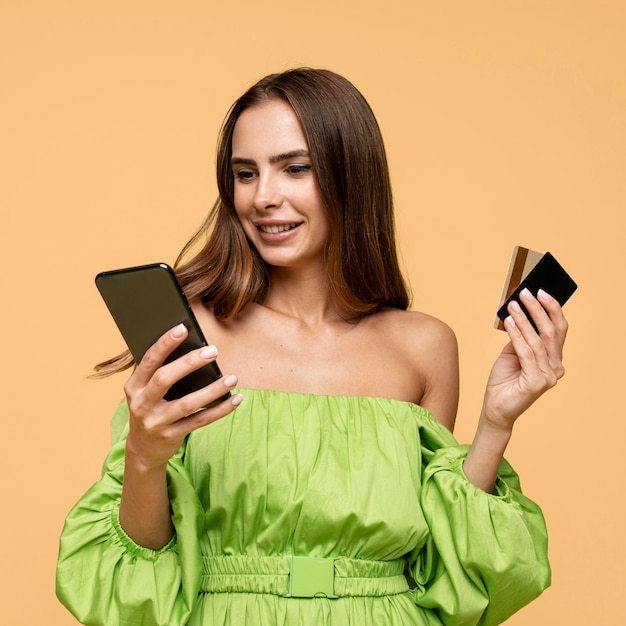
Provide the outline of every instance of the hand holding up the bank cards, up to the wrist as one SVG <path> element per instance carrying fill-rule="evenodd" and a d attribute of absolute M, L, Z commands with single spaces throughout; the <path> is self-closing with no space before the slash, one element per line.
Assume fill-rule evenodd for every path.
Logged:
<path fill-rule="evenodd" d="M 520 299 L 539 333 L 519 304 L 511 303 L 504 322 L 511 341 L 491 370 L 481 416 L 503 430 L 511 430 L 515 420 L 565 373 L 562 359 L 567 320 L 561 305 L 541 290 L 535 298 L 525 289 Z"/>

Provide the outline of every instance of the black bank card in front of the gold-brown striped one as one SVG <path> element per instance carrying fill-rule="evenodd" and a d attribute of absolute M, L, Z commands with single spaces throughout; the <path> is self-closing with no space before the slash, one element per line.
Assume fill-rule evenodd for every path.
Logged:
<path fill-rule="evenodd" d="M 563 269 L 560 263 L 549 252 L 546 252 L 528 273 L 528 276 L 524 278 L 515 291 L 513 291 L 504 304 L 498 309 L 498 317 L 504 321 L 508 316 L 507 307 L 509 302 L 516 300 L 533 325 L 533 328 L 537 330 L 530 314 L 520 301 L 520 292 L 523 289 L 528 289 L 533 296 L 536 297 L 537 292 L 543 289 L 563 306 L 577 288 L 578 285 L 572 280 L 571 276 Z"/>

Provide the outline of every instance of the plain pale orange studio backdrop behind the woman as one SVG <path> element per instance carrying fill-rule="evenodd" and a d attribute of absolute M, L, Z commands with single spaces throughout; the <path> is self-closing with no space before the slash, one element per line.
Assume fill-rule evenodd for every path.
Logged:
<path fill-rule="evenodd" d="M 626 623 L 625 2 L 1 0 L 0 31 L 3 623 L 75 623 L 57 539 L 123 382 L 85 380 L 122 347 L 94 275 L 173 261 L 215 197 L 227 107 L 299 65 L 345 74 L 379 118 L 415 308 L 460 342 L 459 439 L 503 344 L 512 247 L 579 282 L 566 378 L 508 452 L 553 586 L 508 623 Z"/>

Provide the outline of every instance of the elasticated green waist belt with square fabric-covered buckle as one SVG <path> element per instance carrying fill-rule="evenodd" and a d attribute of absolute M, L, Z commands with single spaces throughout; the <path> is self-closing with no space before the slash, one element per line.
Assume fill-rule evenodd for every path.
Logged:
<path fill-rule="evenodd" d="M 269 593 L 285 597 L 336 598 L 404 593 L 404 559 L 290 556 L 205 556 L 201 593 Z"/>

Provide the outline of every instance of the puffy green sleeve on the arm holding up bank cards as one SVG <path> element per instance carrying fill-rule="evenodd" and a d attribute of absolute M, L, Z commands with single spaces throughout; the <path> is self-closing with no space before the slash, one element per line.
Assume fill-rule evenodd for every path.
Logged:
<path fill-rule="evenodd" d="M 463 473 L 469 446 L 439 443 L 422 455 L 430 534 L 411 564 L 415 601 L 446 626 L 501 624 L 550 584 L 543 514 L 506 461 L 488 494 Z"/>

